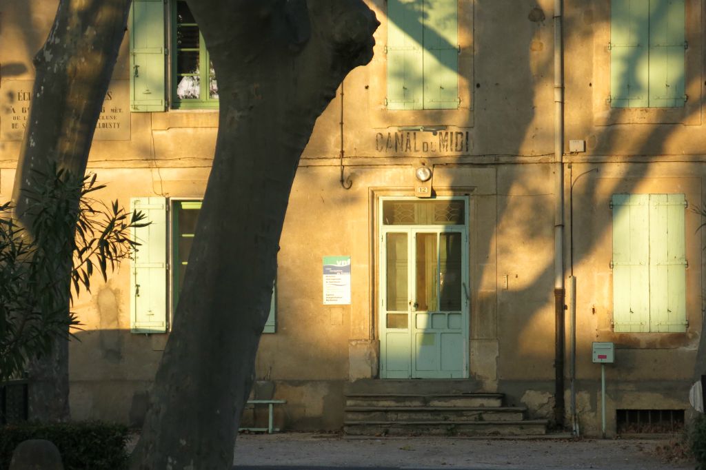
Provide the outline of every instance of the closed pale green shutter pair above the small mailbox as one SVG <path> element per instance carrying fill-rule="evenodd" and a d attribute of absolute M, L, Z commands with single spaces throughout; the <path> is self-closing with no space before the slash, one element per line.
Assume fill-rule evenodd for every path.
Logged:
<path fill-rule="evenodd" d="M 683 194 L 614 194 L 615 332 L 686 331 Z"/>

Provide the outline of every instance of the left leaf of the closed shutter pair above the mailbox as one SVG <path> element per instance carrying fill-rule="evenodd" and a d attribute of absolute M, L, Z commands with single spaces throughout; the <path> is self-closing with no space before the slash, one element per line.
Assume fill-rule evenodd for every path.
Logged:
<path fill-rule="evenodd" d="M 613 195 L 615 332 L 650 331 L 649 201 L 647 194 Z"/>

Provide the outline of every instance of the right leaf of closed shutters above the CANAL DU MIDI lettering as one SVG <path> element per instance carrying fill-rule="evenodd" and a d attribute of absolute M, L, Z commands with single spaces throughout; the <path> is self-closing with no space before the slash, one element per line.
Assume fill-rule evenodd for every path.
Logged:
<path fill-rule="evenodd" d="M 423 44 L 424 109 L 457 109 L 457 0 L 424 0 Z"/>

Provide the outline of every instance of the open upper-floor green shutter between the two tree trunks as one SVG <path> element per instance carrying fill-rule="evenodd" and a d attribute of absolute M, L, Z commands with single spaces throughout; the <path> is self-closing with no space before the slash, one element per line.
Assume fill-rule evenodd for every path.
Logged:
<path fill-rule="evenodd" d="M 164 1 L 133 0 L 130 10 L 130 109 L 166 109 Z"/>

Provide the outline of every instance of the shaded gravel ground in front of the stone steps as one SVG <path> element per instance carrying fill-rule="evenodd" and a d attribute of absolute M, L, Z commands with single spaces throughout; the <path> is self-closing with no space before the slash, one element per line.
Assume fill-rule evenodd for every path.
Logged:
<path fill-rule="evenodd" d="M 693 470 L 690 461 L 664 462 L 666 440 L 478 438 L 342 438 L 338 435 L 241 434 L 239 466 L 388 467 L 473 470 Z"/>

